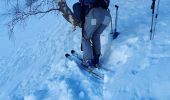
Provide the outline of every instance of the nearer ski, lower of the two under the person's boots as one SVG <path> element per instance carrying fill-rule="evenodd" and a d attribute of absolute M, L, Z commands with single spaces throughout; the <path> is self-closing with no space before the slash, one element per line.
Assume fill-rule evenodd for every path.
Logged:
<path fill-rule="evenodd" d="M 89 74 L 91 74 L 95 78 L 104 80 L 104 74 L 98 71 L 95 71 L 94 68 L 87 68 L 86 66 L 82 65 L 82 60 L 77 59 L 76 57 L 70 55 L 69 53 L 66 53 L 65 57 L 71 61 L 74 61 L 80 69 L 87 71 Z"/>

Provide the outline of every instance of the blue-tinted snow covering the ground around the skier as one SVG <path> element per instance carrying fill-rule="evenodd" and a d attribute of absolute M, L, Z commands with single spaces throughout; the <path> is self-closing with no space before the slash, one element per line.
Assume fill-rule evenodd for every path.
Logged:
<path fill-rule="evenodd" d="M 69 0 L 69 5 L 75 1 Z M 113 20 L 114 5 L 120 6 L 121 34 L 114 41 L 109 27 L 102 34 L 101 62 L 112 70 L 103 71 L 103 81 L 65 59 L 71 49 L 80 51 L 81 30 L 72 32 L 61 15 L 33 18 L 26 30 L 17 26 L 14 48 L 4 42 L 7 36 L 1 30 L 0 100 L 169 100 L 170 1 L 160 2 L 153 41 L 151 2 L 111 1 Z"/>

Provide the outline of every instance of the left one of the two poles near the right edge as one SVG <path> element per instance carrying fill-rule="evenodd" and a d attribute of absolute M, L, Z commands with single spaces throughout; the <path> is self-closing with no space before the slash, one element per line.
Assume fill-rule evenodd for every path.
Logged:
<path fill-rule="evenodd" d="M 152 0 L 152 5 L 151 5 L 151 9 L 152 9 L 152 22 L 151 22 L 151 29 L 150 29 L 150 40 L 152 40 L 152 36 L 153 36 L 153 21 L 154 21 L 154 14 L 155 14 L 155 1 L 156 0 Z"/>

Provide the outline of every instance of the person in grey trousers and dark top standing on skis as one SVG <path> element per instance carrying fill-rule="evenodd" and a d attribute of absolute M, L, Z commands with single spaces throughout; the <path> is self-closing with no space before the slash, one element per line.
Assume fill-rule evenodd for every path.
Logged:
<path fill-rule="evenodd" d="M 75 17 L 82 22 L 82 64 L 87 67 L 99 65 L 100 35 L 111 21 L 109 3 L 109 0 L 79 0 L 73 5 Z"/>

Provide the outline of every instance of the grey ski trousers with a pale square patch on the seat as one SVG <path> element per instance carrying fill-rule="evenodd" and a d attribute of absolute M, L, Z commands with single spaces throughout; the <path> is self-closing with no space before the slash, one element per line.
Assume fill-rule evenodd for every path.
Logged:
<path fill-rule="evenodd" d="M 101 7 L 91 9 L 86 16 L 82 35 L 84 60 L 93 60 L 94 53 L 101 54 L 100 35 L 109 25 L 110 18 L 110 12 Z"/>

